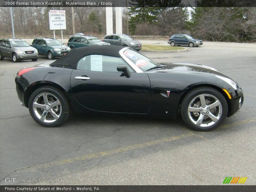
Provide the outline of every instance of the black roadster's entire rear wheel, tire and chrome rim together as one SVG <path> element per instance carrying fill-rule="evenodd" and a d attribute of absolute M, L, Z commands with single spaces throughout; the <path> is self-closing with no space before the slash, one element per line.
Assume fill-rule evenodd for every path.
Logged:
<path fill-rule="evenodd" d="M 47 104 L 47 101 L 45 102 L 45 96 L 47 96 L 49 104 Z M 59 102 L 56 102 L 55 106 L 51 106 L 57 100 Z M 34 105 L 35 103 L 38 103 L 40 107 Z M 70 114 L 70 105 L 67 97 L 59 89 L 52 86 L 36 89 L 29 98 L 28 109 L 36 123 L 44 127 L 59 126 L 68 119 Z"/>

